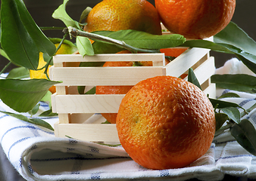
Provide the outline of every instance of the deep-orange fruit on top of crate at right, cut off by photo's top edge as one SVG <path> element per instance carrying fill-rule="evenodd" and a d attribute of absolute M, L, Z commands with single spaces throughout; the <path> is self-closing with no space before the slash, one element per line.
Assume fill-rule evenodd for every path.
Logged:
<path fill-rule="evenodd" d="M 233 17 L 236 0 L 155 0 L 155 7 L 170 32 L 202 39 L 226 27 Z"/>

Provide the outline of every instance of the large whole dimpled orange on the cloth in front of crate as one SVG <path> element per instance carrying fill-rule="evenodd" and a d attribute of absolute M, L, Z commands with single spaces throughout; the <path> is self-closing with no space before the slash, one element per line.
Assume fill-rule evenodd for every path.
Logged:
<path fill-rule="evenodd" d="M 117 113 L 123 149 L 142 167 L 186 167 L 211 146 L 214 108 L 189 81 L 157 76 L 140 81 L 123 97 Z"/>

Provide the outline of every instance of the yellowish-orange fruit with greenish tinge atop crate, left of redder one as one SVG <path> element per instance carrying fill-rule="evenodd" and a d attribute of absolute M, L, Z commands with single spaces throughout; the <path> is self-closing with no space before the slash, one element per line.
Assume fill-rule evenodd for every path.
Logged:
<path fill-rule="evenodd" d="M 104 0 L 92 8 L 86 23 L 87 32 L 134 29 L 161 35 L 158 12 L 145 0 Z"/>

